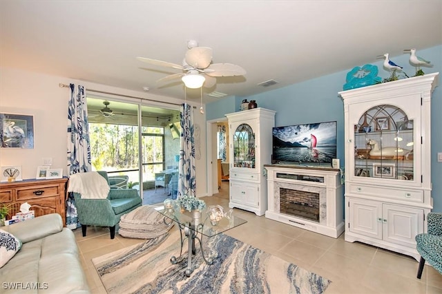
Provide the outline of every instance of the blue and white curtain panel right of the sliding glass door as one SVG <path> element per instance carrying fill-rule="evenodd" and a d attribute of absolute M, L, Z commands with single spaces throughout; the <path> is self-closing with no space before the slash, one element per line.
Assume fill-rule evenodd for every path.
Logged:
<path fill-rule="evenodd" d="M 178 197 L 196 196 L 195 183 L 195 138 L 193 137 L 192 106 L 183 103 L 181 106 L 180 136 L 180 176 L 178 178 Z"/>

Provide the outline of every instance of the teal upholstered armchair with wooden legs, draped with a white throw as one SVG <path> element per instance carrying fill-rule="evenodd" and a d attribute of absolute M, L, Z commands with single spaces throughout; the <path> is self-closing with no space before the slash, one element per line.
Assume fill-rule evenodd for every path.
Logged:
<path fill-rule="evenodd" d="M 98 173 L 109 183 L 106 171 Z M 81 199 L 81 194 L 73 195 L 83 237 L 86 236 L 86 227 L 90 225 L 109 227 L 111 239 L 115 238 L 115 225 L 119 218 L 142 205 L 142 198 L 135 189 L 110 189 L 106 199 Z"/>

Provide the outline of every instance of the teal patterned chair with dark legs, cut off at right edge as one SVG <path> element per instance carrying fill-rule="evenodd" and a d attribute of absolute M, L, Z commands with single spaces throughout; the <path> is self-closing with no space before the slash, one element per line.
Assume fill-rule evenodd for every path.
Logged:
<path fill-rule="evenodd" d="M 417 278 L 420 279 L 425 260 L 442 273 L 442 213 L 430 212 L 427 217 L 428 233 L 416 235 L 416 249 L 421 255 Z"/>

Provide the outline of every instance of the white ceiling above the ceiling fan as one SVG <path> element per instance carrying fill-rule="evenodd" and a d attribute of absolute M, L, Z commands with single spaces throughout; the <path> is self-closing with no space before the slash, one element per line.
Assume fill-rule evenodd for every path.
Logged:
<path fill-rule="evenodd" d="M 0 65 L 184 99 L 179 72 L 135 59 L 182 63 L 186 41 L 245 76 L 210 92 L 248 96 L 376 62 L 379 54 L 442 44 L 442 1 L 0 0 Z M 257 84 L 275 79 L 271 87 Z M 343 81 L 344 83 L 345 81 Z M 199 100 L 200 90 L 187 92 Z"/>

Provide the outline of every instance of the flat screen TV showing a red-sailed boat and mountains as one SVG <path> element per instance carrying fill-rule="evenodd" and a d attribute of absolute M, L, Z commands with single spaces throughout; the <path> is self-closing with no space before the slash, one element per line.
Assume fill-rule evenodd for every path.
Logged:
<path fill-rule="evenodd" d="M 273 127 L 273 164 L 332 165 L 336 121 Z"/>

